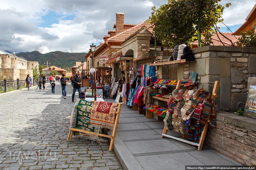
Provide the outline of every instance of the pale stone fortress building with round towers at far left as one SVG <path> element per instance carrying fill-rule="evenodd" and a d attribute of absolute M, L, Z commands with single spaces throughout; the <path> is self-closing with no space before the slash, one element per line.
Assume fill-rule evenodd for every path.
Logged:
<path fill-rule="evenodd" d="M 27 61 L 23 58 L 17 57 L 15 54 L 7 53 L 0 50 L 0 80 L 25 80 L 27 75 L 33 77 L 32 68 L 37 68 L 38 62 Z"/>

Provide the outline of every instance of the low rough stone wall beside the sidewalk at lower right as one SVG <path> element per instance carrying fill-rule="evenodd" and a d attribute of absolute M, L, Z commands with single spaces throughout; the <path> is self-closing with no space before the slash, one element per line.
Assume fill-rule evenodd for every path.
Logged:
<path fill-rule="evenodd" d="M 218 111 L 216 123 L 207 130 L 204 144 L 243 165 L 256 166 L 255 119 Z"/>

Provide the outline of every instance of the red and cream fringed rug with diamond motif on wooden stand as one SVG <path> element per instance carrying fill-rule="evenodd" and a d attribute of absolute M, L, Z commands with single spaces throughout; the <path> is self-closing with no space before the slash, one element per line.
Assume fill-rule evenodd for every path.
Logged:
<path fill-rule="evenodd" d="M 114 129 L 115 113 L 118 103 L 94 101 L 91 111 L 91 125 Z"/>

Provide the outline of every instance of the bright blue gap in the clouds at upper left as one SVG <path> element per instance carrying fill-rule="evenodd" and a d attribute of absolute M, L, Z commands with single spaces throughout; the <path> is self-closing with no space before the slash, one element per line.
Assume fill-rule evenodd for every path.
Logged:
<path fill-rule="evenodd" d="M 75 18 L 75 14 L 63 15 L 63 14 L 58 14 L 55 11 L 49 11 L 46 15 L 42 16 L 43 22 L 40 23 L 38 26 L 50 28 L 52 24 L 58 23 L 60 19 L 73 20 L 74 18 Z"/>

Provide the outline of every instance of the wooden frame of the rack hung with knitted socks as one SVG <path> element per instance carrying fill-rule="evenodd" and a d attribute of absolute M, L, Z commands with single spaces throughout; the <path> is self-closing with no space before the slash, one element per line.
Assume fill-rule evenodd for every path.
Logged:
<path fill-rule="evenodd" d="M 214 83 L 214 87 L 213 87 L 213 90 L 212 90 L 212 99 L 215 100 L 217 96 L 217 91 L 218 91 L 218 87 L 219 87 L 219 81 L 215 81 Z M 177 86 L 176 86 L 176 89 L 180 90 L 180 84 L 181 84 L 181 80 L 178 81 L 177 83 Z M 210 113 L 211 114 L 211 113 Z M 177 137 L 173 137 L 173 136 L 170 136 L 170 135 L 166 135 L 168 130 L 165 129 L 164 127 L 164 131 L 163 131 L 163 134 L 162 134 L 162 137 L 170 137 L 172 139 L 175 139 L 175 140 L 178 140 L 178 141 L 181 141 L 181 142 L 184 142 L 184 143 L 187 143 L 187 144 L 192 144 L 192 145 L 195 145 L 195 146 L 198 146 L 198 151 L 201 151 L 202 150 L 202 147 L 203 147 L 203 144 L 204 144 L 204 137 L 205 137 L 205 134 L 206 134 L 206 131 L 208 129 L 208 124 L 209 124 L 209 119 L 210 119 L 210 114 L 207 118 L 207 121 L 204 125 L 204 130 L 202 131 L 202 134 L 201 134 L 201 137 L 200 137 L 200 141 L 199 141 L 199 144 L 196 144 L 194 142 L 190 142 L 190 141 L 187 141 L 185 139 L 187 139 L 187 135 L 185 134 L 182 134 L 182 139 L 180 138 L 177 138 Z"/>

